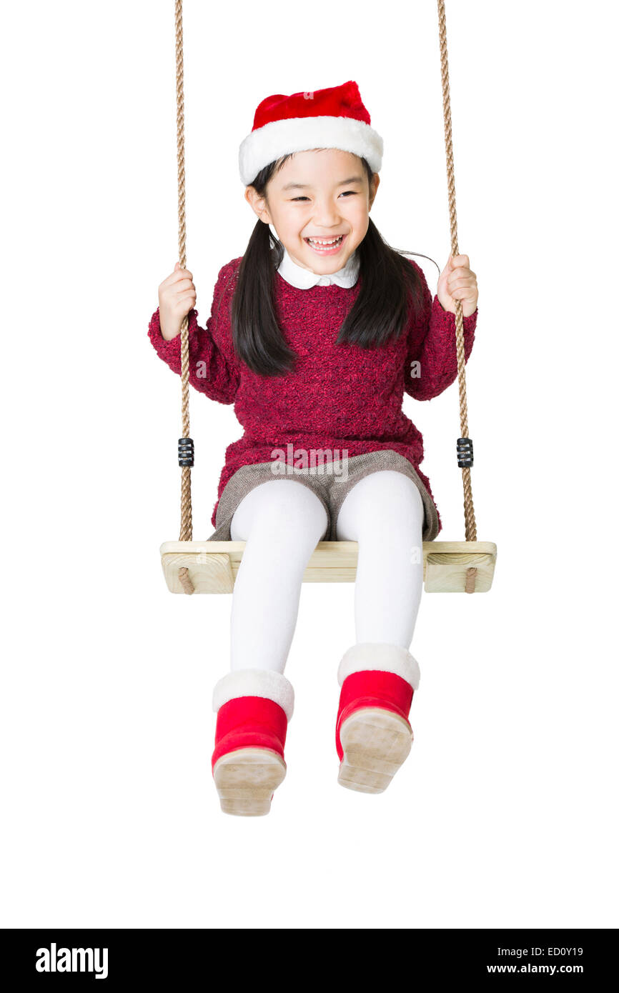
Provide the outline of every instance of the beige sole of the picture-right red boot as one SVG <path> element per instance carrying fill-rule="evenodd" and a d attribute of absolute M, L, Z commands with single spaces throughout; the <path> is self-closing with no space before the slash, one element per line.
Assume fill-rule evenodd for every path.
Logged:
<path fill-rule="evenodd" d="M 382 793 L 406 759 L 412 731 L 382 707 L 356 710 L 340 728 L 344 759 L 338 782 L 361 793 Z"/>

